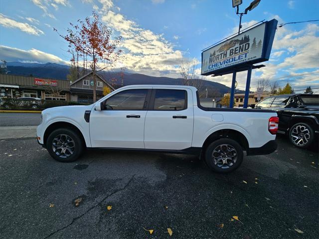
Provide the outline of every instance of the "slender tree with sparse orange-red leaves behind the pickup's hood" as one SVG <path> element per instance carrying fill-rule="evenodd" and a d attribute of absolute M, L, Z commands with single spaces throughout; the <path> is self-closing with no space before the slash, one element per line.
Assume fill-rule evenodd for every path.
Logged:
<path fill-rule="evenodd" d="M 93 73 L 93 102 L 96 102 L 96 73 L 110 67 L 119 60 L 122 50 L 119 44 L 121 36 L 113 37 L 110 28 L 99 20 L 99 15 L 93 11 L 92 17 L 78 20 L 77 24 L 70 23 L 67 34 L 54 31 L 68 42 L 69 52 L 75 51 L 80 56 L 86 56 Z"/>

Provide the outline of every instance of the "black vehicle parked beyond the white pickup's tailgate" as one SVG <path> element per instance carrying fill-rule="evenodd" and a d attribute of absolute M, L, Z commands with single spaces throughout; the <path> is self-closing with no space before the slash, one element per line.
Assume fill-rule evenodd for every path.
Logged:
<path fill-rule="evenodd" d="M 279 117 L 278 133 L 287 134 L 297 147 L 306 148 L 318 139 L 319 95 L 271 96 L 259 102 L 255 108 L 276 111 Z"/>

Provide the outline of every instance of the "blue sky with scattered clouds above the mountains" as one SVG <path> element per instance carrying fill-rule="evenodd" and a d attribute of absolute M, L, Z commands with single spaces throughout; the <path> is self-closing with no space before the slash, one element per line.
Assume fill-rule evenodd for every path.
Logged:
<path fill-rule="evenodd" d="M 244 10 L 251 0 L 243 0 Z M 318 0 L 261 0 L 243 16 L 243 27 L 276 18 L 279 23 L 318 19 Z M 67 44 L 52 28 L 65 33 L 96 10 L 101 20 L 124 37 L 123 65 L 138 73 L 177 78 L 182 58 L 200 62 L 201 50 L 234 33 L 239 17 L 231 0 L 0 0 L 0 59 L 68 64 Z M 289 81 L 295 90 L 319 88 L 319 22 L 278 28 L 266 67 L 259 78 Z M 198 65 L 200 72 L 200 65 Z M 227 86 L 231 75 L 207 77 Z M 245 88 L 246 73 L 237 74 Z"/>

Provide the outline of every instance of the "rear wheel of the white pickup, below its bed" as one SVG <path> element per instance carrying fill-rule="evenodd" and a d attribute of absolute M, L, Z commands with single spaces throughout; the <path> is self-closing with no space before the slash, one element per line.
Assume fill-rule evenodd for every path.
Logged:
<path fill-rule="evenodd" d="M 208 145 L 205 162 L 218 173 L 229 173 L 237 169 L 243 161 L 244 153 L 239 143 L 230 138 L 220 138 Z"/>

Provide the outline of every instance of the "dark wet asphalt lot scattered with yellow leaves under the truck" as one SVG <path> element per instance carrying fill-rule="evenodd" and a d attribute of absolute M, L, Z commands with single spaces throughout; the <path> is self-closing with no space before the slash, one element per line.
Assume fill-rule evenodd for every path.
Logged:
<path fill-rule="evenodd" d="M 0 238 L 170 238 L 167 228 L 171 238 L 319 238 L 318 151 L 278 143 L 222 175 L 194 156 L 88 151 L 60 163 L 34 139 L 0 140 Z"/>

